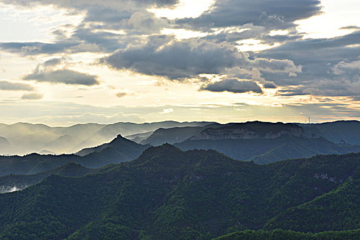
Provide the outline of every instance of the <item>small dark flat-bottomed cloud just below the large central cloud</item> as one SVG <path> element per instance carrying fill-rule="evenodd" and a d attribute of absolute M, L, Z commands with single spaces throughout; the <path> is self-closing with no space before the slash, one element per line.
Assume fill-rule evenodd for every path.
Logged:
<path fill-rule="evenodd" d="M 240 81 L 237 79 L 226 79 L 219 82 L 204 84 L 201 86 L 202 91 L 211 92 L 230 92 L 230 93 L 262 93 L 260 86 L 254 81 Z"/>

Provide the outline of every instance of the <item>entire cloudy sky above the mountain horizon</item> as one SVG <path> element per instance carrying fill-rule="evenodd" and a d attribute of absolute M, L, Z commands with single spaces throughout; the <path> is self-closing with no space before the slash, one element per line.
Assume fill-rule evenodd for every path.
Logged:
<path fill-rule="evenodd" d="M 360 120 L 358 0 L 0 0 L 0 123 Z"/>

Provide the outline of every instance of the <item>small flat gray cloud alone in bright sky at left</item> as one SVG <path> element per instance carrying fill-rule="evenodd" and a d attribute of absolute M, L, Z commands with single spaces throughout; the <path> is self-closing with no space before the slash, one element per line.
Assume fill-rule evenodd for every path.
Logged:
<path fill-rule="evenodd" d="M 23 80 L 35 80 L 37 82 L 63 83 L 70 85 L 93 86 L 100 84 L 98 77 L 88 73 L 80 73 L 69 69 L 42 71 L 36 69 L 34 73 L 26 75 Z"/>

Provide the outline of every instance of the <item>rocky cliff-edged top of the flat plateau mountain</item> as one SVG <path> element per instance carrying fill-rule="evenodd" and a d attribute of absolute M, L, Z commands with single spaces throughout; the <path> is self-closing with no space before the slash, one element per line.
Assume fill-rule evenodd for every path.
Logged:
<path fill-rule="evenodd" d="M 208 128 L 190 140 L 218 139 L 276 139 L 280 136 L 305 137 L 304 130 L 291 123 L 234 123 L 223 128 Z"/>

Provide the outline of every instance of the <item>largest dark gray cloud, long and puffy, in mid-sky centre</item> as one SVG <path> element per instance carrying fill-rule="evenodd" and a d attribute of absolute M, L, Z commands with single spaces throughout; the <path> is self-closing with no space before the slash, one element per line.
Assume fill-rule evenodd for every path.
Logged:
<path fill-rule="evenodd" d="M 301 71 L 291 60 L 255 58 L 239 52 L 233 45 L 209 40 L 173 41 L 169 36 L 152 36 L 144 45 L 118 49 L 100 62 L 114 69 L 131 70 L 146 75 L 164 76 L 170 80 L 198 77 L 199 74 L 227 74 L 234 67 L 260 71 L 290 73 Z"/>

